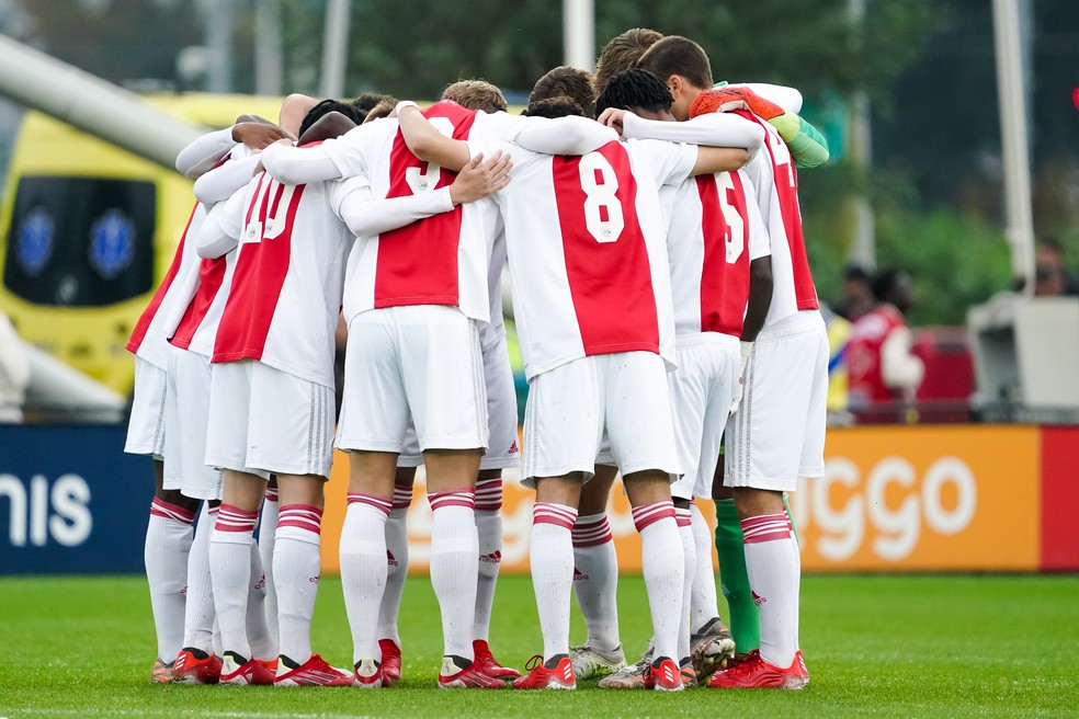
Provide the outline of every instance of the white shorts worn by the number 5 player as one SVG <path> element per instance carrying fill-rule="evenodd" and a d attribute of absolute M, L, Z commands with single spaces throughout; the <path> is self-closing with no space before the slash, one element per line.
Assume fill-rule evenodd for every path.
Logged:
<path fill-rule="evenodd" d="M 675 340 L 678 369 L 670 375 L 678 458 L 685 472 L 671 487 L 675 499 L 711 499 L 719 443 L 738 385 L 738 338 L 717 332 Z"/>

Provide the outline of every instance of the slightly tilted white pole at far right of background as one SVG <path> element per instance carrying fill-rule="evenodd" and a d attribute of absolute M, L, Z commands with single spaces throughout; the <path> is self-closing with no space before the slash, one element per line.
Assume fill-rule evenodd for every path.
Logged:
<path fill-rule="evenodd" d="M 1020 52 L 1019 0 L 993 0 L 997 45 L 997 95 L 1004 158 L 1004 233 L 1011 246 L 1012 273 L 1034 292 L 1034 216 L 1026 130 L 1026 93 Z"/>

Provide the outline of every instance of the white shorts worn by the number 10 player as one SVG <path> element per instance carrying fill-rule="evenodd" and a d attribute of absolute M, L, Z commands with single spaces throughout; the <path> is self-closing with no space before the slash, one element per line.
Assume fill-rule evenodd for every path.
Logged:
<path fill-rule="evenodd" d="M 330 476 L 333 389 L 253 360 L 213 365 L 206 464 Z"/>

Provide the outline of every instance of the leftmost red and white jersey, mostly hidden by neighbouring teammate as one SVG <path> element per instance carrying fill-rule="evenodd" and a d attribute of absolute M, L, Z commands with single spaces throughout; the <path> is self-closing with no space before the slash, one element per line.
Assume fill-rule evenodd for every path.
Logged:
<path fill-rule="evenodd" d="M 150 304 L 135 323 L 127 350 L 149 362 L 159 369 L 168 369 L 169 360 L 166 343 L 172 336 L 183 308 L 191 301 L 198 284 L 198 255 L 195 253 L 195 238 L 206 219 L 206 210 L 195 203 L 188 225 L 180 237 L 180 244 L 172 258 L 172 264 L 158 286 Z"/>

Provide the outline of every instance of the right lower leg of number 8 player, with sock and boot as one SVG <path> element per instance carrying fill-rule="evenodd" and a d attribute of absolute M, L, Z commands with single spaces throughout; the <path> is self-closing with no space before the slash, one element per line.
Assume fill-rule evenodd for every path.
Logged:
<path fill-rule="evenodd" d="M 674 520 L 670 476 L 659 470 L 626 475 L 626 494 L 640 533 L 641 570 L 652 619 L 654 654 L 646 688 L 679 691 L 678 636 L 682 617 L 685 577 L 682 538 Z"/>

